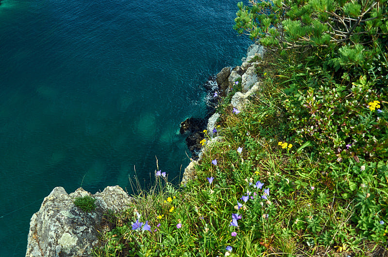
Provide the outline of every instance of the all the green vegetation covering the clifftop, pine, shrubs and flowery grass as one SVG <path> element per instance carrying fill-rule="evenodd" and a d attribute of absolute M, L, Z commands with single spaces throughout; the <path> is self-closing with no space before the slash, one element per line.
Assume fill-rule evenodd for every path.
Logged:
<path fill-rule="evenodd" d="M 158 171 L 95 255 L 388 256 L 387 0 L 240 2 L 235 21 L 269 50 L 261 91 L 232 108 L 237 80 L 197 179 Z"/>

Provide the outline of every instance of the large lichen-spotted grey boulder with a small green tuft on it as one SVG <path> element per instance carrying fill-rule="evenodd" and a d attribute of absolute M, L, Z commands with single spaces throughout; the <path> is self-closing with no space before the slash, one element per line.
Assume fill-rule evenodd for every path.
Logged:
<path fill-rule="evenodd" d="M 96 209 L 83 212 L 73 203 L 76 197 L 95 198 Z M 63 187 L 52 190 L 30 222 L 26 257 L 90 256 L 98 242 L 98 227 L 108 210 L 123 212 L 131 197 L 119 186 L 92 195 L 77 189 L 68 195 Z"/>

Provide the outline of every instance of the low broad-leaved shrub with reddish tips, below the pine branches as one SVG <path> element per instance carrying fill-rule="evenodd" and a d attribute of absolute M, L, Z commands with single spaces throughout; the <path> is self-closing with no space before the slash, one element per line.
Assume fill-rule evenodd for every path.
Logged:
<path fill-rule="evenodd" d="M 322 157 L 341 162 L 346 157 L 372 160 L 388 157 L 388 113 L 384 95 L 366 76 L 352 86 L 337 84 L 316 69 L 308 88 L 291 84 L 284 106 L 295 141 L 313 141 Z M 319 81 L 319 83 L 316 83 Z"/>

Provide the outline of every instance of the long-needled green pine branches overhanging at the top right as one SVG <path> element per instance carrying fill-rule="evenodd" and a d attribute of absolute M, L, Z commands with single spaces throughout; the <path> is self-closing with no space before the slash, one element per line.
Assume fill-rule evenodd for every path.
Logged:
<path fill-rule="evenodd" d="M 387 0 L 262 0 L 238 8 L 234 29 L 271 49 L 348 45 L 354 56 L 360 45 L 387 43 Z"/>

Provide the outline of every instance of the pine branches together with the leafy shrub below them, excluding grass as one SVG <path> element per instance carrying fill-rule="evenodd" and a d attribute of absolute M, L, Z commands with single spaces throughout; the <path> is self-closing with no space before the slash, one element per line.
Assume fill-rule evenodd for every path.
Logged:
<path fill-rule="evenodd" d="M 289 0 L 238 4 L 240 34 L 288 59 L 286 130 L 341 162 L 388 157 L 387 0 Z"/>

